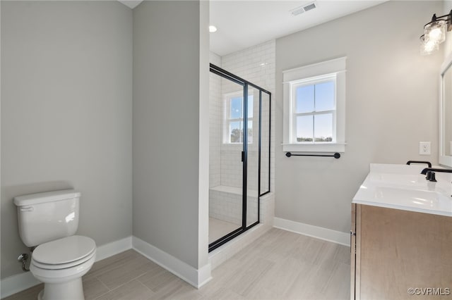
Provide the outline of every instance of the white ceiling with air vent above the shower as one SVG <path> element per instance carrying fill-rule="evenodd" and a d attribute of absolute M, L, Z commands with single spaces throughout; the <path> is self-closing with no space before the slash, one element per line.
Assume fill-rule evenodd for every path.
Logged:
<path fill-rule="evenodd" d="M 381 4 L 373 0 L 210 0 L 210 51 L 224 56 L 250 46 L 326 23 Z M 316 8 L 292 15 L 291 11 L 315 2 Z"/>

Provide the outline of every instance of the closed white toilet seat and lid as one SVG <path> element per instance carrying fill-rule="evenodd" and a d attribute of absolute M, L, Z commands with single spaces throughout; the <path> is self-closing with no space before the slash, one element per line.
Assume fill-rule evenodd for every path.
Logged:
<path fill-rule="evenodd" d="M 95 250 L 93 239 L 73 235 L 37 246 L 32 252 L 31 263 L 47 270 L 71 268 L 90 260 L 95 256 Z"/>

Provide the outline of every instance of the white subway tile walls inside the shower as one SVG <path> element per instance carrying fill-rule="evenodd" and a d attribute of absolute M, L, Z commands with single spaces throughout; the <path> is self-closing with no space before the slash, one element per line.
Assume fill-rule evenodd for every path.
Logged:
<path fill-rule="evenodd" d="M 220 57 L 210 53 L 210 63 L 233 73 L 249 82 L 262 87 L 272 93 L 275 92 L 275 41 L 253 46 L 234 54 Z M 225 104 L 223 96 L 229 92 L 240 91 L 241 86 L 210 73 L 210 201 L 209 215 L 213 218 L 239 224 L 242 221 L 241 193 L 225 192 L 225 189 L 215 187 L 242 188 L 242 144 L 223 144 L 223 115 Z M 253 142 L 248 146 L 248 225 L 257 220 L 257 189 L 258 189 L 258 91 L 250 89 L 254 95 L 253 129 L 256 130 Z M 268 157 L 270 165 L 270 190 L 274 189 L 274 105 L 269 106 L 269 97 L 263 93 L 262 105 L 262 151 L 261 151 L 261 192 L 268 190 Z M 268 135 L 271 115 L 271 131 Z M 268 137 L 270 136 L 270 150 Z M 226 188 L 227 189 L 227 188 Z M 256 196 L 254 196 L 256 195 Z M 267 197 L 272 204 L 263 204 L 261 199 L 261 221 L 273 220 L 270 215 L 274 211 L 266 208 L 273 207 L 274 196 Z M 272 209 L 272 208 L 270 208 Z M 269 215 L 270 214 L 270 215 Z M 266 215 L 267 217 L 263 217 Z"/>

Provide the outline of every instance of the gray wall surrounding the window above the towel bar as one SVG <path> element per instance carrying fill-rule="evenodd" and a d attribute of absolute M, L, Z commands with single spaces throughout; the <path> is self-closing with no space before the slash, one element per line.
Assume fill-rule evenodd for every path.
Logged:
<path fill-rule="evenodd" d="M 350 201 L 369 163 L 438 161 L 441 51 L 420 56 L 422 27 L 442 1 L 388 1 L 276 41 L 276 208 L 295 222 L 350 230 Z M 286 158 L 282 71 L 347 56 L 347 146 L 334 158 Z M 432 156 L 418 154 L 432 142 Z"/>

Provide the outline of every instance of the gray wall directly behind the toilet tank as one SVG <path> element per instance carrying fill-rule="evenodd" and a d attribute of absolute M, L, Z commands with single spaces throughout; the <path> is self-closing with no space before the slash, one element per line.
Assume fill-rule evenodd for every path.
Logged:
<path fill-rule="evenodd" d="M 13 196 L 73 187 L 78 234 L 129 237 L 132 11 L 1 1 L 1 277 L 22 273 Z"/>

